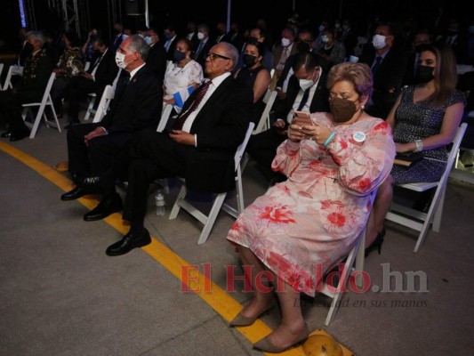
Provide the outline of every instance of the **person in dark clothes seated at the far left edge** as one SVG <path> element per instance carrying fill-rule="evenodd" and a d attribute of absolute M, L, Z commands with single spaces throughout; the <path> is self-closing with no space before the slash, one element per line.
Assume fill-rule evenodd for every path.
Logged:
<path fill-rule="evenodd" d="M 40 32 L 27 33 L 23 51 L 28 53 L 23 76 L 13 90 L 0 92 L 0 117 L 4 117 L 9 130 L 1 136 L 10 141 L 19 141 L 28 137 L 29 129 L 21 117 L 21 105 L 27 102 L 41 101 L 44 89 L 52 74 L 52 61 L 41 48 L 44 36 Z"/>

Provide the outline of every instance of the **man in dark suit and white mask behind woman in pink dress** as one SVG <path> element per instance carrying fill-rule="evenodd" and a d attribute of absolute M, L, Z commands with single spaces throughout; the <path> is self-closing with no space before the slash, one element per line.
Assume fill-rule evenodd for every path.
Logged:
<path fill-rule="evenodd" d="M 374 93 L 366 104 L 366 112 L 385 119 L 397 101 L 406 71 L 406 55 L 396 48 L 395 34 L 390 24 L 375 28 L 372 48 L 359 59 L 366 63 L 374 76 Z"/>

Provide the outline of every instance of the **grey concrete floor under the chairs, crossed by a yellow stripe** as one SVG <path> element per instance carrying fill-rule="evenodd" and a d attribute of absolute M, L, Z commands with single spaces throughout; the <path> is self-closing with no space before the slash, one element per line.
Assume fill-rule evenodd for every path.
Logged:
<path fill-rule="evenodd" d="M 34 140 L 1 142 L 49 167 L 67 158 L 66 134 L 44 126 Z M 0 172 L 1 355 L 261 354 L 252 349 L 264 335 L 260 324 L 239 331 L 226 320 L 237 314 L 235 303 L 250 295 L 237 288 L 209 302 L 205 298 L 215 295 L 182 293 L 180 280 L 169 271 L 177 255 L 194 265 L 211 263 L 213 282 L 225 288 L 224 266 L 239 263 L 225 240 L 233 222 L 227 214 L 220 214 L 208 241 L 197 246 L 200 224 L 184 212 L 169 221 L 169 207 L 165 217 L 157 217 L 150 191 L 146 226 L 161 245 L 108 257 L 106 247 L 121 236 L 119 214 L 84 223 L 87 208 L 60 201 L 63 190 L 42 175 L 50 169 L 36 172 L 4 150 Z M 414 231 L 387 223 L 382 255 L 366 259 L 372 285 L 384 286 L 390 269 L 402 273 L 406 289 L 406 273 L 422 271 L 427 292 L 348 292 L 329 327 L 324 326 L 327 300 L 303 299 L 309 328 L 324 328 L 362 356 L 471 354 L 472 188 L 450 180 L 441 231 L 430 231 L 420 252 L 413 253 Z M 244 189 L 246 204 L 266 190 L 252 162 L 245 168 Z M 177 191 L 172 183 L 169 205 Z M 262 321 L 263 330 L 276 328 L 278 310 Z"/>

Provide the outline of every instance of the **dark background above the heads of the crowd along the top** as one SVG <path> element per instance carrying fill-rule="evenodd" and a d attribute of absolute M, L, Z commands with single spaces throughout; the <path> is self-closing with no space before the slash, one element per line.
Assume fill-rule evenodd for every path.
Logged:
<path fill-rule="evenodd" d="M 119 20 L 133 29 L 144 26 L 143 16 L 126 15 L 129 0 L 121 1 L 123 16 Z M 100 28 L 105 36 L 109 36 L 112 26 L 108 23 L 107 3 L 106 0 L 89 0 L 90 23 L 92 27 Z M 37 26 L 32 29 L 46 29 L 53 35 L 60 34 L 62 19 L 58 13 L 50 11 L 48 0 L 34 0 L 33 4 Z M 277 38 L 281 28 L 285 27 L 286 20 L 292 15 L 292 4 L 293 0 L 233 0 L 231 20 L 237 20 L 242 28 L 250 28 L 257 19 L 265 18 L 269 28 L 272 29 L 273 38 Z M 324 18 L 338 19 L 340 9 L 342 9 L 341 18 L 351 18 L 355 28 L 366 29 L 367 23 L 374 18 L 396 21 L 400 27 L 412 19 L 418 27 L 430 28 L 440 8 L 444 13 L 441 21 L 443 28 L 446 28 L 447 21 L 453 17 L 461 21 L 462 28 L 467 28 L 470 20 L 474 20 L 474 2 L 466 0 L 296 0 L 299 20 L 306 21 L 304 27 L 313 31 L 316 31 Z M 0 39 L 4 41 L 0 52 L 12 52 L 19 42 L 18 0 L 1 0 L 0 10 Z M 158 28 L 173 23 L 180 30 L 185 28 L 189 20 L 195 20 L 197 23 L 205 22 L 214 29 L 217 21 L 227 18 L 227 0 L 149 0 L 149 12 L 151 24 Z"/>

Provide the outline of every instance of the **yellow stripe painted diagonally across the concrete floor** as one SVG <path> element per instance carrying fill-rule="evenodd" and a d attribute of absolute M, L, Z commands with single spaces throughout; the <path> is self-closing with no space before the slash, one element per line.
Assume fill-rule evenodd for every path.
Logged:
<path fill-rule="evenodd" d="M 56 171 L 50 166 L 44 165 L 43 162 L 29 156 L 28 154 L 13 148 L 11 145 L 4 142 L 0 142 L 0 150 L 11 155 L 13 158 L 18 159 L 20 162 L 29 166 L 31 169 L 41 174 L 48 181 L 56 184 L 61 190 L 71 190 L 74 185 L 64 174 Z M 78 201 L 89 209 L 97 206 L 99 201 L 95 198 L 84 197 L 78 199 Z M 104 219 L 106 223 L 115 228 L 122 234 L 128 231 L 128 226 L 120 214 L 112 214 Z M 181 279 L 181 271 L 185 266 L 190 266 L 186 260 L 182 259 L 179 255 L 176 255 L 171 249 L 165 247 L 157 239 L 152 239 L 151 244 L 142 249 L 152 256 L 158 263 L 160 263 L 166 270 L 170 271 L 177 279 Z M 242 305 L 238 303 L 234 298 L 228 295 L 221 287 L 214 284 L 212 280 L 205 277 L 204 274 L 195 270 L 189 270 L 189 288 L 196 290 L 199 287 L 199 292 L 196 292 L 206 303 L 208 303 L 215 312 L 218 312 L 225 320 L 232 320 L 237 313 L 242 309 Z M 194 273 L 194 274 L 192 274 Z M 205 292 L 205 287 L 210 286 L 212 292 Z M 262 337 L 267 336 L 272 329 L 269 328 L 263 321 L 257 320 L 252 326 L 237 328 L 252 344 L 259 341 Z M 288 350 L 287 352 L 280 353 L 281 355 L 293 356 L 293 355 L 304 355 L 301 346 Z"/>

